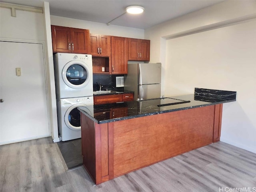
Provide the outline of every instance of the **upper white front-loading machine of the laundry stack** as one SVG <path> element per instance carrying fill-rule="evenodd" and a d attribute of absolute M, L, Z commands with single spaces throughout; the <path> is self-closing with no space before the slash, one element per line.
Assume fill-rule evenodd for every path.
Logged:
<path fill-rule="evenodd" d="M 54 55 L 57 98 L 93 96 L 92 55 Z"/>

